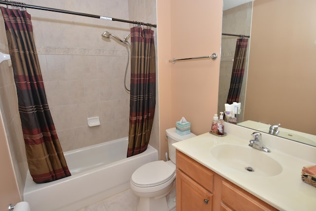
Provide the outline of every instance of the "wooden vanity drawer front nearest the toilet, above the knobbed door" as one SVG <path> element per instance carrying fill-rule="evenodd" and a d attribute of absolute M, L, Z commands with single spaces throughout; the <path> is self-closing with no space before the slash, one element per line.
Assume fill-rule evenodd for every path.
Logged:
<path fill-rule="evenodd" d="M 176 165 L 177 169 L 185 172 L 186 175 L 190 176 L 209 192 L 213 192 L 213 173 L 211 170 L 178 150 L 176 153 Z"/>

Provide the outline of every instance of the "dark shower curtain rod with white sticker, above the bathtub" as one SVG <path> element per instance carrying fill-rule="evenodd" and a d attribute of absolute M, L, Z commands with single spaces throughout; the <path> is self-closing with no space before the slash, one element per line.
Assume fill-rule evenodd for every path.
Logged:
<path fill-rule="evenodd" d="M 119 22 L 125 22 L 125 23 L 130 23 L 130 24 L 150 26 L 150 27 L 155 27 L 155 28 L 157 27 L 156 24 L 149 24 L 149 23 L 143 23 L 143 22 L 137 22 L 137 21 L 128 21 L 128 20 L 122 20 L 122 19 L 118 19 L 118 18 L 111 18 L 111 17 L 100 16 L 100 15 L 92 15 L 92 14 L 81 13 L 81 12 L 73 12 L 73 11 L 63 10 L 63 9 L 54 9 L 54 8 L 49 8 L 49 7 L 25 4 L 25 3 L 17 2 L 17 1 L 0 0 L 0 4 L 18 6 L 18 7 L 26 7 L 26 8 L 31 8 L 31 9 L 40 9 L 40 10 L 46 10 L 46 11 L 51 11 L 51 12 L 60 12 L 60 13 L 66 13 L 66 14 L 72 14 L 72 15 L 80 15 L 80 16 L 98 18 L 98 19 L 109 20 L 109 21 L 119 21 Z"/>

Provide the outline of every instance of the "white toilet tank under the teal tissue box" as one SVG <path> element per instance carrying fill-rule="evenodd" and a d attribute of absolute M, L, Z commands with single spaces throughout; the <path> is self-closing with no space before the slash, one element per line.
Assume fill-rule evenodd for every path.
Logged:
<path fill-rule="evenodd" d="M 166 135 L 168 138 L 169 159 L 173 163 L 176 163 L 176 148 L 174 146 L 172 146 L 172 144 L 175 142 L 183 141 L 183 140 L 190 139 L 190 138 L 196 136 L 193 133 L 190 133 L 190 134 L 185 135 L 185 136 L 181 136 L 181 135 L 176 133 L 176 128 L 167 129 Z"/>

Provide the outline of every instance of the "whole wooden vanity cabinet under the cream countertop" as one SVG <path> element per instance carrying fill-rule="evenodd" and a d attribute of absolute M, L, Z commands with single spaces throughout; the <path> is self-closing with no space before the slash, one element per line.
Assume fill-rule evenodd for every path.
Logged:
<path fill-rule="evenodd" d="M 177 211 L 276 211 L 177 150 Z"/>

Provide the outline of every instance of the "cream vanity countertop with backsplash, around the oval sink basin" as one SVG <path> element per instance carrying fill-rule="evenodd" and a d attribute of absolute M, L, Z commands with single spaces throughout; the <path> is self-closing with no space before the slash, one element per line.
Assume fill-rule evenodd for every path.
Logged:
<path fill-rule="evenodd" d="M 278 210 L 316 211 L 316 187 L 301 179 L 303 166 L 316 165 L 316 147 L 262 133 L 264 144 L 272 151 L 262 153 L 275 159 L 282 166 L 282 172 L 276 176 L 254 176 L 252 172 L 241 172 L 223 165 L 210 153 L 215 145 L 248 146 L 252 139 L 254 130 L 234 124 L 226 124 L 225 127 L 228 133 L 225 137 L 205 133 L 173 145 Z"/>

